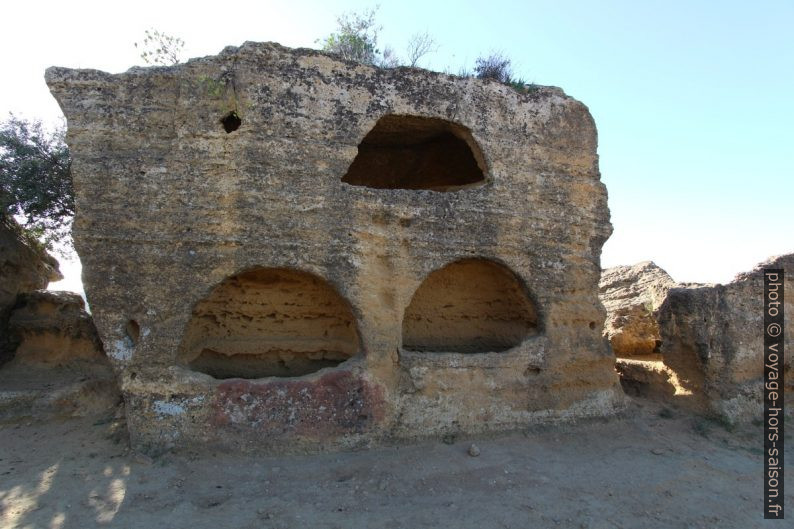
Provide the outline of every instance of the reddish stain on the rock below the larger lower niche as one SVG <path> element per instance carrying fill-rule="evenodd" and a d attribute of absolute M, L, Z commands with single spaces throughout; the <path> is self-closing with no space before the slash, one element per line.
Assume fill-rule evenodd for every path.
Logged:
<path fill-rule="evenodd" d="M 359 433 L 383 416 L 383 391 L 349 371 L 316 380 L 221 383 L 213 425 L 251 428 L 269 435 L 311 437 Z"/>

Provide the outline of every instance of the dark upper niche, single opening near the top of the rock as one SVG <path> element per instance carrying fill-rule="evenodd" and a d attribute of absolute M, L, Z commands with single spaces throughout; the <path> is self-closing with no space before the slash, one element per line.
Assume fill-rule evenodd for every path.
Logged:
<path fill-rule="evenodd" d="M 342 182 L 375 189 L 456 191 L 485 182 L 485 159 L 461 125 L 390 114 L 361 141 Z"/>

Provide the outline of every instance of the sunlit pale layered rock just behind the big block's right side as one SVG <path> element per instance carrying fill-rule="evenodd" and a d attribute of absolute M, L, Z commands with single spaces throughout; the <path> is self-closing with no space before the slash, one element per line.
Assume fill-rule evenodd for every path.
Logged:
<path fill-rule="evenodd" d="M 651 261 L 608 268 L 601 274 L 598 297 L 607 311 L 604 336 L 618 357 L 658 353 L 658 310 L 675 281 Z"/>

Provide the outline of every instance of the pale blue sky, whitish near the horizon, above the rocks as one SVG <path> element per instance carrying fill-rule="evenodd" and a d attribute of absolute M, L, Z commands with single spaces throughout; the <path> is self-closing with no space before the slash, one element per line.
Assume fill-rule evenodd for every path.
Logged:
<path fill-rule="evenodd" d="M 335 15 L 375 5 L 14 4 L 0 112 L 45 119 L 58 112 L 46 66 L 123 71 L 140 63 L 132 42 L 148 27 L 183 37 L 187 56 L 245 40 L 315 46 Z M 794 251 L 794 1 L 380 4 L 382 44 L 400 53 L 416 31 L 435 36 L 424 66 L 457 71 L 498 50 L 589 106 L 615 228 L 605 266 L 650 259 L 677 280 L 725 282 Z"/>

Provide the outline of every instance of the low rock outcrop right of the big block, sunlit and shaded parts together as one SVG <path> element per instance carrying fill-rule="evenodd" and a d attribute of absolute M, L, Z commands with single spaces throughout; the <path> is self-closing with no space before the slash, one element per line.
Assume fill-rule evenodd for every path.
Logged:
<path fill-rule="evenodd" d="M 763 409 L 763 268 L 786 271 L 794 291 L 794 254 L 759 264 L 727 285 L 675 283 L 651 262 L 604 270 L 604 335 L 627 393 L 674 398 L 728 422 Z M 786 311 L 794 310 L 789 296 Z M 792 384 L 792 326 L 785 327 L 787 383 Z M 653 353 L 653 354 L 651 354 Z M 794 394 L 794 388 L 789 395 Z"/>

